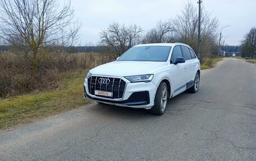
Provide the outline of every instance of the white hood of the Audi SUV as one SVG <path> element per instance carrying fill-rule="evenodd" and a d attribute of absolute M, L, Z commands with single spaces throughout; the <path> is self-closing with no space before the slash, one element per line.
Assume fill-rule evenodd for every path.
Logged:
<path fill-rule="evenodd" d="M 115 61 L 106 63 L 90 70 L 94 75 L 135 76 L 152 74 L 167 66 L 167 62 Z"/>

